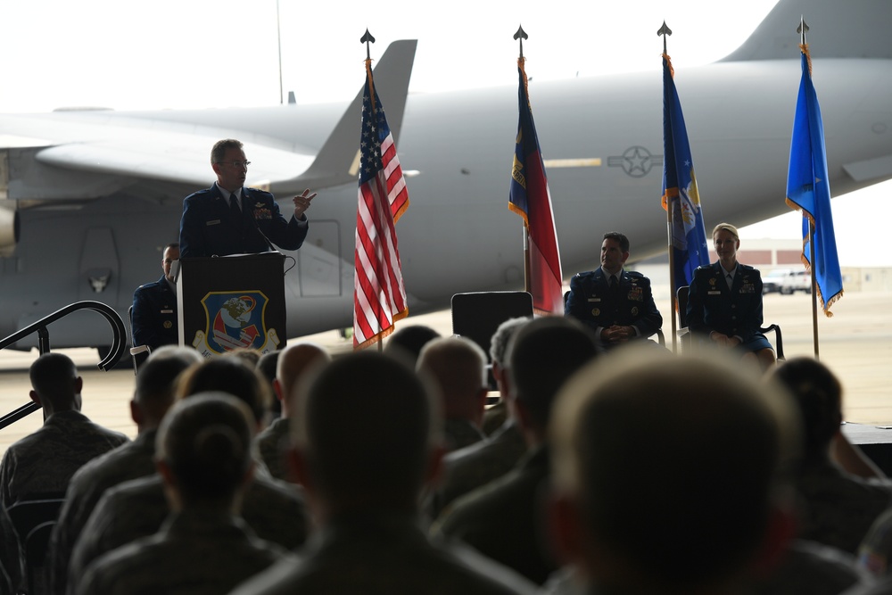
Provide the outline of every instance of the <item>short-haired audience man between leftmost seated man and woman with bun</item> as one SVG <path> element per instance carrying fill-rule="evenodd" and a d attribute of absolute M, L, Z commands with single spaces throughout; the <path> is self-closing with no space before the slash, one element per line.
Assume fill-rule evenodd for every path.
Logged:
<path fill-rule="evenodd" d="M 119 483 L 154 475 L 155 434 L 173 404 L 174 381 L 200 361 L 202 357 L 194 349 L 169 346 L 153 351 L 139 368 L 130 401 L 136 440 L 91 460 L 71 478 L 50 539 L 50 584 L 54 593 L 65 591 L 71 550 L 103 492 Z"/>

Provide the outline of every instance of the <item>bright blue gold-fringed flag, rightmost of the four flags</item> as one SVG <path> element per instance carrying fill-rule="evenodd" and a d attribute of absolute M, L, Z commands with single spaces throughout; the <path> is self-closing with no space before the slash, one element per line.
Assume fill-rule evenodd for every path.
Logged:
<path fill-rule="evenodd" d="M 802 49 L 802 81 L 793 118 L 793 140 L 789 146 L 787 204 L 802 211 L 802 260 L 814 271 L 818 299 L 824 314 L 842 297 L 842 272 L 830 213 L 830 179 L 818 96 L 812 85 L 812 60 L 808 46 Z M 814 262 L 811 261 L 809 224 L 814 223 Z"/>

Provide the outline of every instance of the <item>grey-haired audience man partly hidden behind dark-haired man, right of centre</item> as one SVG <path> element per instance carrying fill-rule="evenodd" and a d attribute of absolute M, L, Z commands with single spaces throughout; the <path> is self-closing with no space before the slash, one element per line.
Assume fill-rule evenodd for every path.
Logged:
<path fill-rule="evenodd" d="M 508 348 L 508 340 L 515 331 L 531 319 L 509 318 L 492 334 L 490 343 L 492 377 L 495 378 L 501 395 L 496 407 L 502 406 L 506 411 L 508 363 L 505 351 Z M 443 457 L 442 479 L 427 501 L 428 516 L 436 518 L 452 500 L 505 475 L 514 468 L 525 452 L 524 435 L 520 433 L 512 415 L 507 415 L 505 422 L 489 439 L 463 449 L 453 450 Z"/>

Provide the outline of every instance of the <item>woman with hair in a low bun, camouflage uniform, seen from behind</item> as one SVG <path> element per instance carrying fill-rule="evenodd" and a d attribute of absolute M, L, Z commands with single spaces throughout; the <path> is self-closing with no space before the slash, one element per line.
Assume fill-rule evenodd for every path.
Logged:
<path fill-rule="evenodd" d="M 225 393 L 178 402 L 161 424 L 157 446 L 170 516 L 155 535 L 95 560 L 77 592 L 223 595 L 287 558 L 233 512 L 251 482 L 254 425 L 244 402 Z"/>

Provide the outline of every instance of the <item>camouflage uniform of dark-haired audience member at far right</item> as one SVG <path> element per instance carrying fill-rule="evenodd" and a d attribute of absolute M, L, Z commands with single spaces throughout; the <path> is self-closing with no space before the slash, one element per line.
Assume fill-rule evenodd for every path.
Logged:
<path fill-rule="evenodd" d="M 803 497 L 798 536 L 850 554 L 892 500 L 888 480 L 849 475 L 830 461 L 805 464 L 797 490 Z"/>

